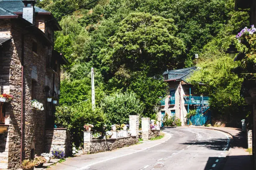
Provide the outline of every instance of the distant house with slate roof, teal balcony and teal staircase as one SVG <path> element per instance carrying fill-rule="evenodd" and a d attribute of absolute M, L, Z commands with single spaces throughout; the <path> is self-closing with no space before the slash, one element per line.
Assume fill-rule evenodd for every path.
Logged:
<path fill-rule="evenodd" d="M 198 94 L 188 78 L 197 69 L 189 67 L 178 70 L 166 70 L 164 81 L 168 83 L 168 95 L 161 100 L 158 119 L 162 122 L 164 115 L 178 117 L 182 125 L 192 122 L 193 125 L 210 123 L 210 98 L 205 94 Z M 187 113 L 196 110 L 196 115 L 187 119 Z"/>

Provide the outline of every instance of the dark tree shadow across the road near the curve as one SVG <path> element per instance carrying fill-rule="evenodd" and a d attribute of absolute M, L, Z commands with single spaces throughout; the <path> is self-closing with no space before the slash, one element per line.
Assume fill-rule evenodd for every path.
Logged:
<path fill-rule="evenodd" d="M 200 145 L 212 150 L 224 150 L 227 145 L 226 139 L 210 139 L 210 140 L 188 140 L 183 145 Z"/>

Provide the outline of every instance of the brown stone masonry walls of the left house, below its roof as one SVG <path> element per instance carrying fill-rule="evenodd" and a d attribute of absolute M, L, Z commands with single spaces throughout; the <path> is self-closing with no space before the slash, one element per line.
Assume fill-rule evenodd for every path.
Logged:
<path fill-rule="evenodd" d="M 47 44 L 40 34 L 33 33 L 22 22 L 23 20 L 0 20 L 0 37 L 10 37 L 10 41 L 0 49 L 2 69 L 0 94 L 8 93 L 14 96 L 12 101 L 3 104 L 5 125 L 9 125 L 9 128 L 8 133 L 0 134 L 0 169 L 16 170 L 20 167 L 21 107 L 23 107 L 22 159 L 44 153 L 45 139 L 50 138 L 49 134 L 54 135 L 54 133 L 47 135 L 45 133 L 49 112 L 54 110 L 54 105 L 47 102 L 47 95 L 54 93 L 58 97 L 60 62 L 56 60 L 54 71 L 46 67 L 48 51 L 53 49 L 53 44 Z M 47 30 L 45 24 L 40 24 L 39 27 L 40 30 L 44 30 L 43 32 Z M 51 35 L 53 36 L 53 32 Z M 36 51 L 33 50 L 35 47 Z M 22 64 L 23 89 L 21 89 Z M 23 106 L 21 106 L 22 91 Z M 43 103 L 43 111 L 31 108 L 33 99 Z"/>

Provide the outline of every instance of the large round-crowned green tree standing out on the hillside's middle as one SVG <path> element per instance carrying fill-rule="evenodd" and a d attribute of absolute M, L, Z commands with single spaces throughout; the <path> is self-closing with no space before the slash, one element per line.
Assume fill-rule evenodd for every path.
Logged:
<path fill-rule="evenodd" d="M 182 40 L 175 37 L 173 20 L 149 13 L 131 13 L 110 37 L 108 55 L 115 72 L 121 65 L 149 75 L 162 72 L 167 65 L 178 65 L 184 52 Z"/>

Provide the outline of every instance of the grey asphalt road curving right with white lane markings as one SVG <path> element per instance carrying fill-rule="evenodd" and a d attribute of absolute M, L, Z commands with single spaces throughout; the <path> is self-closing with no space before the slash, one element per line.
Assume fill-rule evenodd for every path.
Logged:
<path fill-rule="evenodd" d="M 165 128 L 164 139 L 71 158 L 51 170 L 221 170 L 227 134 L 200 128 Z M 58 168 L 59 167 L 59 168 Z"/>

